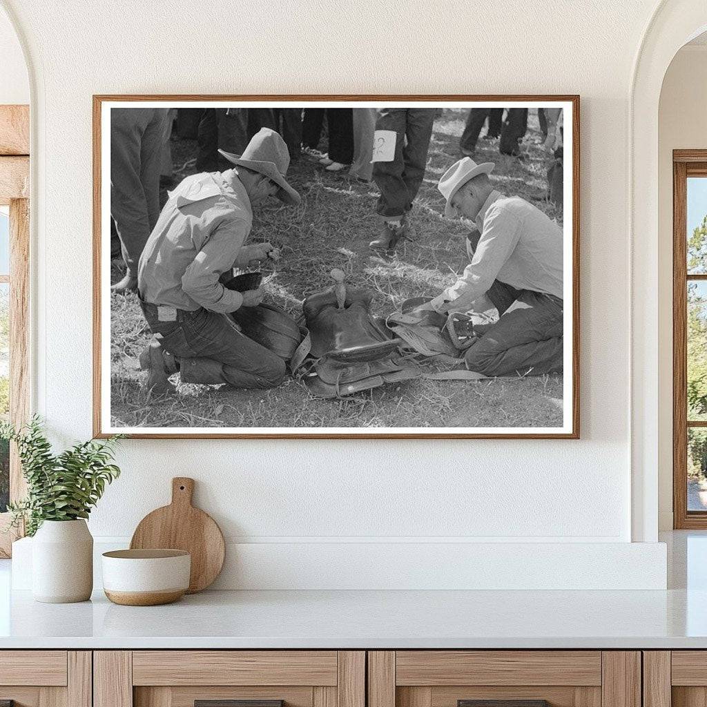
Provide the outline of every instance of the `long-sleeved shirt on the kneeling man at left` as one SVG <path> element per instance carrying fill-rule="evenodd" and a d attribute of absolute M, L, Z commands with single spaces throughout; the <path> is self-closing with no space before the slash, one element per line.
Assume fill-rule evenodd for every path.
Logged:
<path fill-rule="evenodd" d="M 237 310 L 243 296 L 218 278 L 235 264 L 252 219 L 236 170 L 186 177 L 169 192 L 140 257 L 140 297 L 192 312 Z"/>

